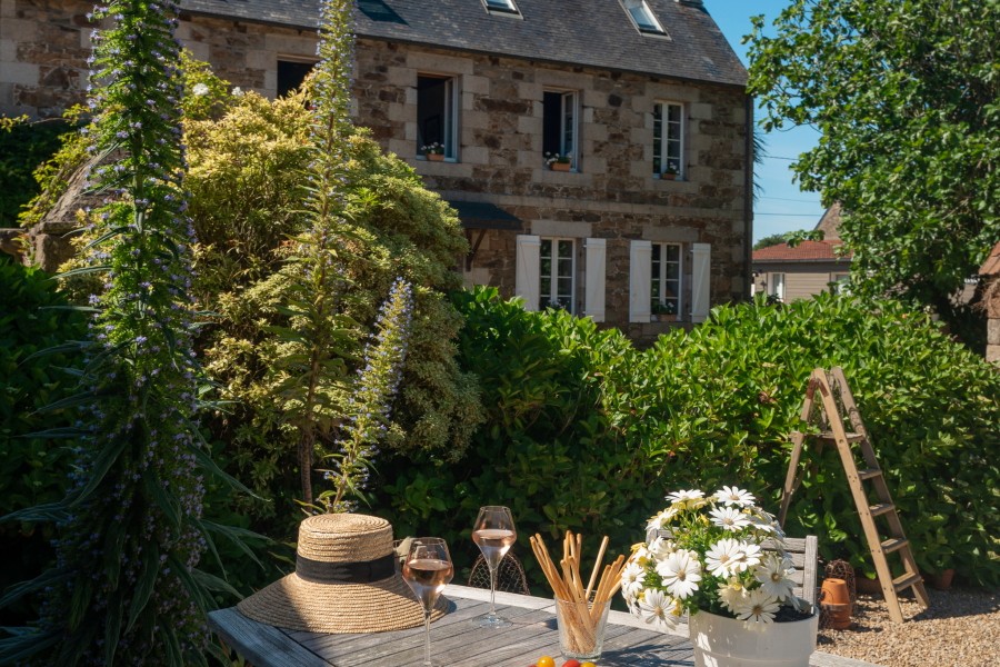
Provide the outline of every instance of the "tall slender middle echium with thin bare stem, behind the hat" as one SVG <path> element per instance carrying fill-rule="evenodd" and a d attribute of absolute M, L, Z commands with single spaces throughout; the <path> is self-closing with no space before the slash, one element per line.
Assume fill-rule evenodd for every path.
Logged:
<path fill-rule="evenodd" d="M 324 459 L 333 454 L 326 448 L 326 437 L 342 418 L 339 405 L 342 396 L 351 391 L 344 360 L 352 356 L 357 323 L 343 315 L 343 298 L 351 282 L 347 267 L 357 240 L 344 213 L 348 139 L 353 131 L 350 121 L 352 10 L 350 0 L 327 0 L 321 7 L 317 47 L 320 62 L 311 88 L 312 155 L 306 173 L 304 209 L 309 226 L 294 239 L 288 266 L 282 269 L 290 280 L 283 307 L 289 320 L 287 327 L 276 328 L 286 345 L 283 355 L 273 364 L 273 372 L 283 376 L 279 392 L 299 435 L 298 462 L 306 506 L 313 506 L 316 500 L 313 457 L 318 454 Z M 361 414 L 363 410 L 358 406 L 366 400 L 364 396 L 357 397 L 358 402 L 348 411 Z M 379 394 L 372 400 L 381 402 L 384 398 Z M 360 442 L 371 435 L 370 429 L 367 422 L 352 424 L 351 441 L 362 447 Z M 366 467 L 363 457 L 358 456 L 362 449 L 346 446 L 346 450 L 351 454 L 347 455 L 346 465 L 341 459 L 340 469 L 344 475 L 340 480 L 358 489 L 358 475 Z M 323 497 L 328 507 L 346 507 L 343 494 L 333 495 L 336 500 Z"/>

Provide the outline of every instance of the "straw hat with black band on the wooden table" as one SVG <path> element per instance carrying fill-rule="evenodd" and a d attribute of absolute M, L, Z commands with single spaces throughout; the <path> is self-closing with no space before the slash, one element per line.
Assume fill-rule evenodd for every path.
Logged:
<path fill-rule="evenodd" d="M 296 571 L 237 605 L 243 616 L 291 630 L 381 633 L 423 625 L 423 608 L 397 573 L 392 526 L 353 514 L 299 525 Z M 431 619 L 444 614 L 443 596 Z"/>

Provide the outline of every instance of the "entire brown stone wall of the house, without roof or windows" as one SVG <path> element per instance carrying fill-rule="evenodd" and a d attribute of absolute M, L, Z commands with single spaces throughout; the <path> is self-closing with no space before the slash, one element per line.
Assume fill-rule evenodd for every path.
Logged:
<path fill-rule="evenodd" d="M 82 101 L 90 7 L 70 0 L 0 0 L 0 112 L 52 116 Z M 308 61 L 316 54 L 311 30 L 182 16 L 178 37 L 220 77 L 266 96 L 277 92 L 279 60 Z M 408 160 L 431 189 L 450 200 L 494 203 L 523 221 L 522 233 L 608 240 L 609 323 L 633 337 L 664 327 L 627 321 L 632 239 L 711 243 L 711 302 L 748 293 L 742 90 L 371 39 L 360 39 L 356 52 L 358 122 Z M 421 73 L 457 77 L 457 161 L 431 162 L 417 155 Z M 578 172 L 554 172 L 544 165 L 542 93 L 548 88 L 580 91 Z M 653 178 L 657 101 L 684 104 L 684 180 Z M 486 233 L 467 281 L 512 295 L 517 233 Z M 582 242 L 577 246 L 580 285 Z"/>

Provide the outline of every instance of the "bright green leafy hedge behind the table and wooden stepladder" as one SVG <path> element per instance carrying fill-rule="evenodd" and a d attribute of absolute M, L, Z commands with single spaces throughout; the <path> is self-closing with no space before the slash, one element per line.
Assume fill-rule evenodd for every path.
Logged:
<path fill-rule="evenodd" d="M 471 565 L 469 525 L 509 505 L 529 535 L 607 534 L 624 551 L 668 490 L 738 484 L 777 511 L 804 388 L 842 366 L 926 571 L 1000 581 L 996 522 L 1000 374 L 904 307 L 823 295 L 788 307 L 717 308 L 648 350 L 564 312 L 526 312 L 496 291 L 457 302 L 460 359 L 480 376 L 487 425 L 458 465 L 383 466 L 377 511 L 398 532 L 442 534 Z M 906 354 L 901 354 L 906 350 Z M 787 529 L 873 575 L 839 459 L 807 456 Z M 947 526 L 947 534 L 946 534 Z M 529 573 L 534 570 L 524 558 Z"/>

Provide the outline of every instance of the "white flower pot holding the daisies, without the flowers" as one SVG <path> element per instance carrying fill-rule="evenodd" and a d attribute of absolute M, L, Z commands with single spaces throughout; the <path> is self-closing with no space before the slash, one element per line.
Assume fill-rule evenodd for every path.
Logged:
<path fill-rule="evenodd" d="M 791 623 L 758 623 L 708 611 L 688 620 L 696 667 L 809 667 L 819 615 Z"/>

